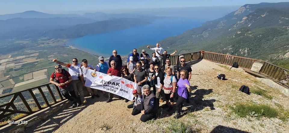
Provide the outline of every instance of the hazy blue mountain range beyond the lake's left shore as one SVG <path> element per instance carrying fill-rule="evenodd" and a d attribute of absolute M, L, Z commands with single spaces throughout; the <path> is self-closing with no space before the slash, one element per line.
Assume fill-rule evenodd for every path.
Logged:
<path fill-rule="evenodd" d="M 47 14 L 38 11 L 0 15 L 0 40 L 77 38 L 148 24 L 161 17 L 137 14 Z"/>

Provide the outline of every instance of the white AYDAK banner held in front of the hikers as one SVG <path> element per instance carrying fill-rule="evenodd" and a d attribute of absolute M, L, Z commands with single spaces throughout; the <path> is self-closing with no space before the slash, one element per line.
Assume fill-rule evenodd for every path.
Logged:
<path fill-rule="evenodd" d="M 110 92 L 130 101 L 133 99 L 132 90 L 138 87 L 136 83 L 125 78 L 109 76 L 91 69 L 87 71 L 85 86 Z"/>

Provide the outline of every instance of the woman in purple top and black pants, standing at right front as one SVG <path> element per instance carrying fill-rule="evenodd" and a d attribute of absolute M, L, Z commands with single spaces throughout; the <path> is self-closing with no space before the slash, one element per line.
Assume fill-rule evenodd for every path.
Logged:
<path fill-rule="evenodd" d="M 181 109 L 183 107 L 183 101 L 185 101 L 185 99 L 188 98 L 187 89 L 189 92 L 191 92 L 190 83 L 188 79 L 186 79 L 187 75 L 188 75 L 188 71 L 184 69 L 180 71 L 180 79 L 177 83 L 179 97 L 178 97 L 178 101 L 176 102 L 176 109 L 177 109 L 177 115 L 175 116 L 176 119 L 181 117 Z"/>

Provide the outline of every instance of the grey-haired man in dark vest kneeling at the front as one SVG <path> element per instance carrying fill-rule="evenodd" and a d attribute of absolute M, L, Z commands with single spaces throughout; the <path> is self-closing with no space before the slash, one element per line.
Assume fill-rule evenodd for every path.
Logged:
<path fill-rule="evenodd" d="M 142 95 L 144 110 L 141 110 L 141 121 L 146 122 L 151 119 L 156 119 L 157 110 L 159 108 L 159 105 L 156 102 L 156 97 L 153 93 L 151 93 L 151 88 L 149 85 L 144 85 L 142 87 L 142 91 L 144 92 Z"/>

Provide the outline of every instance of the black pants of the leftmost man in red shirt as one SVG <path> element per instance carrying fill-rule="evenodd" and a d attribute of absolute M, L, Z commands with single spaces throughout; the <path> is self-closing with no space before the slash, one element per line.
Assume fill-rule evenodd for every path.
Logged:
<path fill-rule="evenodd" d="M 60 89 L 60 91 L 66 99 L 81 104 L 81 101 L 79 98 L 76 97 L 74 89 L 71 84 L 68 85 L 65 89 Z"/>

